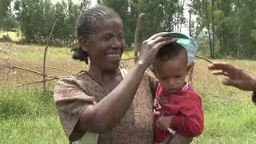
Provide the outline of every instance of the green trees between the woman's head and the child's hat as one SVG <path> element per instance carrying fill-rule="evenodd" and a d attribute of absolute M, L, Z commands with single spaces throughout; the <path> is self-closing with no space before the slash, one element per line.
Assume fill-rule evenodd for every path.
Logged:
<path fill-rule="evenodd" d="M 184 18 L 182 6 L 178 0 L 98 0 L 98 4 L 110 6 L 120 14 L 124 22 L 126 44 L 129 47 L 132 47 L 134 42 L 134 31 L 139 14 L 146 14 L 140 25 L 140 43 L 152 34 L 161 31 L 173 31 L 175 16 Z"/>

